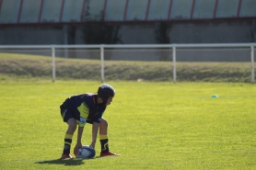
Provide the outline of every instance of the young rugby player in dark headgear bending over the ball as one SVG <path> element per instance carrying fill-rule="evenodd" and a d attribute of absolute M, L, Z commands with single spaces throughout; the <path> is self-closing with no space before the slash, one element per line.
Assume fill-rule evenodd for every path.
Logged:
<path fill-rule="evenodd" d="M 100 85 L 98 94 L 81 94 L 68 97 L 61 105 L 61 115 L 68 128 L 64 136 L 64 151 L 62 158 L 72 158 L 70 154 L 73 134 L 78 126 L 77 142 L 74 148 L 76 155 L 82 148 L 82 134 L 86 123 L 92 124 L 92 141 L 90 146 L 95 148 L 97 134 L 101 144 L 100 156 L 119 155 L 109 150 L 108 121 L 102 115 L 108 105 L 111 105 L 115 90 L 111 85 Z"/>

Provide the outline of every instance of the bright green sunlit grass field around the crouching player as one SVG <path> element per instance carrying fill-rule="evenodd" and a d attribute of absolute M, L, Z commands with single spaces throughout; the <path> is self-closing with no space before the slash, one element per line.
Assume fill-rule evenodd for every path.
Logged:
<path fill-rule="evenodd" d="M 60 160 L 59 105 L 100 83 L 50 81 L 0 81 L 0 169 L 256 169 L 255 85 L 107 82 L 110 149 L 122 155 Z"/>

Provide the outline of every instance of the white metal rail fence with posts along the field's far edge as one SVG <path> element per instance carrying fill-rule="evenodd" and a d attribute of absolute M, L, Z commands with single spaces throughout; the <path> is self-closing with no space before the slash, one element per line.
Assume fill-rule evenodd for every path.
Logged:
<path fill-rule="evenodd" d="M 255 79 L 256 43 L 0 46 L 0 74 L 101 80 Z M 51 57 L 51 58 L 50 58 Z"/>

